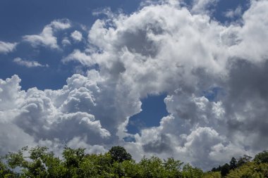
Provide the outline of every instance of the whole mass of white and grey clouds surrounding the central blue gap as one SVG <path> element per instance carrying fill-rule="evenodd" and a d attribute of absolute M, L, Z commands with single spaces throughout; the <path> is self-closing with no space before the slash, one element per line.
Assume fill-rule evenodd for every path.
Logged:
<path fill-rule="evenodd" d="M 18 76 L 0 80 L 0 152 L 67 144 L 99 153 L 119 144 L 137 160 L 173 156 L 207 169 L 267 148 L 268 1 L 250 1 L 242 23 L 230 25 L 209 17 L 215 2 L 149 3 L 95 21 L 86 50 L 63 63 L 98 67 L 62 89 L 22 91 Z M 55 49 L 53 30 L 67 27 L 54 21 L 24 39 Z M 140 100 L 162 93 L 169 115 L 129 134 Z"/>

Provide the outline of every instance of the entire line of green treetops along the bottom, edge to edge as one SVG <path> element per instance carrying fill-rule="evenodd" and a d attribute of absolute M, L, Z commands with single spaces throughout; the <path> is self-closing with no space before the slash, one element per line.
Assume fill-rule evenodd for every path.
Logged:
<path fill-rule="evenodd" d="M 8 153 L 0 161 L 2 177 L 268 177 L 268 152 L 254 159 L 243 156 L 230 163 L 203 172 L 180 160 L 162 160 L 155 156 L 135 163 L 121 146 L 112 147 L 104 154 L 86 154 L 84 148 L 64 148 L 58 158 L 46 147 L 22 148 Z"/>

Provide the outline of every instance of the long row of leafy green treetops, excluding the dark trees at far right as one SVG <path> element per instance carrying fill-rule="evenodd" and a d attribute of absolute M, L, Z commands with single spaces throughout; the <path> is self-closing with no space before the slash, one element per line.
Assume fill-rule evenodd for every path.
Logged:
<path fill-rule="evenodd" d="M 142 158 L 139 163 L 121 146 L 108 153 L 86 154 L 84 148 L 65 148 L 57 158 L 46 147 L 22 148 L 1 161 L 0 177 L 201 177 L 202 170 L 180 160 Z"/>

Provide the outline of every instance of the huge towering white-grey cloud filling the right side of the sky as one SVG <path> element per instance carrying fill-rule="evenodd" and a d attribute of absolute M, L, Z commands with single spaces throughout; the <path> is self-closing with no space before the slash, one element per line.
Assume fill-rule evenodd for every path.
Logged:
<path fill-rule="evenodd" d="M 252 98 L 249 97 L 252 94 L 249 92 L 241 97 L 246 100 L 243 103 L 250 104 L 247 107 L 251 114 L 242 111 L 242 108 L 245 109 L 243 104 L 241 110 L 238 103 L 235 104 L 235 108 L 229 108 L 233 98 L 237 98 L 238 101 L 242 99 L 237 95 L 238 92 L 232 94 L 234 88 L 242 89 L 244 86 L 245 90 L 248 88 L 245 86 L 257 85 L 256 89 L 263 88 L 262 91 L 266 91 L 264 89 L 266 85 L 260 87 L 258 84 L 249 82 L 242 83 L 245 85 L 229 87 L 238 84 L 230 81 L 230 77 L 234 79 L 234 76 L 239 76 L 240 81 L 244 81 L 243 72 L 252 67 L 253 71 L 261 71 L 255 75 L 254 81 L 257 76 L 259 78 L 262 75 L 266 76 L 264 66 L 261 67 L 257 63 L 266 63 L 267 58 L 267 40 L 259 41 L 261 37 L 264 39 L 267 37 L 267 30 L 265 30 L 267 25 L 261 23 L 266 21 L 263 19 L 266 12 L 262 10 L 267 8 L 267 3 L 253 1 L 250 9 L 243 15 L 243 26 L 235 23 L 228 26 L 220 25 L 211 20 L 208 15 L 205 15 L 207 13 L 205 7 L 211 4 L 212 1 L 196 1 L 191 9 L 195 15 L 185 8 L 176 8 L 167 4 L 145 6 L 129 16 L 114 16 L 107 23 L 105 20 L 97 20 L 92 26 L 89 42 L 97 45 L 99 51 L 103 51 L 94 53 L 95 60 L 101 66 L 102 75 L 112 76 L 113 80 L 119 80 L 118 83 L 123 84 L 124 87 L 130 86 L 130 91 L 134 96 L 136 94 L 136 97 L 142 98 L 147 94 L 161 92 L 171 94 L 166 98 L 170 115 L 162 119 L 160 127 L 145 129 L 141 131 L 140 136 L 135 135 L 136 143 L 126 144 L 128 148 L 133 146 L 135 150 L 140 150 L 142 146 L 144 152 L 141 154 L 153 152 L 162 158 L 172 155 L 195 165 L 205 162 L 210 155 L 206 160 L 207 163 L 202 165 L 206 168 L 208 165 L 228 162 L 229 157 L 232 156 L 229 151 L 233 155 L 243 152 L 250 154 L 262 151 L 267 146 L 267 144 L 255 146 L 260 145 L 259 141 L 265 138 L 266 132 L 257 129 L 250 132 L 250 129 L 246 128 L 253 125 L 253 121 L 249 125 L 243 122 L 243 120 L 247 122 L 251 120 L 246 115 L 256 113 L 254 118 L 259 118 L 258 122 L 263 125 L 264 120 L 260 115 L 265 115 L 265 107 L 262 107 L 264 110 L 261 109 L 264 113 L 258 115 L 260 110 L 252 106 Z M 202 11 L 202 15 L 199 11 Z M 113 20 L 112 25 L 111 20 Z M 241 68 L 238 67 L 239 63 L 235 65 L 236 61 L 239 61 L 238 58 L 245 58 L 256 66 L 249 65 L 248 68 L 233 74 L 232 70 Z M 218 94 L 217 102 L 209 101 L 202 96 L 202 92 L 213 87 L 224 88 L 225 94 Z M 125 91 L 123 87 L 120 89 L 121 92 Z M 261 98 L 255 98 L 254 101 L 260 102 L 258 106 L 266 106 L 264 103 L 267 102 Z M 241 115 L 236 113 L 238 110 Z M 231 116 L 228 116 L 230 114 Z M 236 125 L 238 123 L 241 128 L 236 132 L 235 130 L 239 128 Z M 257 128 L 262 130 L 261 126 Z M 210 143 L 209 139 L 205 139 L 206 136 L 197 136 L 197 140 L 204 144 L 200 150 L 195 150 L 194 141 L 187 138 L 199 133 L 195 132 L 196 130 L 201 130 L 208 137 L 211 136 L 210 140 L 215 139 L 215 142 Z M 229 133 L 236 133 L 239 139 Z M 246 141 L 245 135 L 248 136 L 249 133 L 252 139 Z M 120 132 L 121 137 L 122 135 Z M 130 135 L 126 133 L 126 136 Z M 239 143 L 236 143 L 238 140 Z M 204 154 L 198 155 L 199 151 Z M 221 160 L 213 156 L 217 151 L 222 153 Z M 189 154 L 192 152 L 193 154 Z M 137 153 L 133 154 L 137 156 L 136 158 L 140 158 Z"/>

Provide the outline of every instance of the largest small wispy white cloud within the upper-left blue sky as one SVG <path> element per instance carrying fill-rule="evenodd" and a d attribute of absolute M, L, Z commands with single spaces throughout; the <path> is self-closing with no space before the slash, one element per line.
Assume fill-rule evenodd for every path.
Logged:
<path fill-rule="evenodd" d="M 32 46 L 47 46 L 51 49 L 59 49 L 57 38 L 54 33 L 59 30 L 66 30 L 71 27 L 69 20 L 54 20 L 46 25 L 40 34 L 25 35 L 23 40 Z"/>

